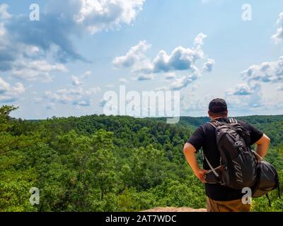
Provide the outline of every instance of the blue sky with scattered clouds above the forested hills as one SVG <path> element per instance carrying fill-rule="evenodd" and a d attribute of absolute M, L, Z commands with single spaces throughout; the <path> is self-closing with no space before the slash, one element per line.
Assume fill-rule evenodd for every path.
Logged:
<path fill-rule="evenodd" d="M 279 0 L 0 1 L 0 104 L 23 119 L 102 114 L 125 85 L 179 90 L 182 115 L 214 97 L 231 115 L 283 114 L 282 12 Z"/>

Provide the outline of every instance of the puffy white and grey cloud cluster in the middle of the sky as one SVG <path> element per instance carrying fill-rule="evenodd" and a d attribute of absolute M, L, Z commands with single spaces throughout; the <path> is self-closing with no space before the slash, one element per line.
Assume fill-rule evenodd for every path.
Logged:
<path fill-rule="evenodd" d="M 175 78 L 171 86 L 173 90 L 180 90 L 200 77 L 202 70 L 197 65 L 198 61 L 204 59 L 202 44 L 205 37 L 207 35 L 200 33 L 195 37 L 192 48 L 175 47 L 170 54 L 161 50 L 152 60 L 146 55 L 151 44 L 143 40 L 131 47 L 125 55 L 116 57 L 112 64 L 117 68 L 130 68 L 132 72 L 139 73 L 138 81 L 152 79 L 155 73 L 165 73 L 166 79 L 170 80 L 177 77 L 175 74 L 172 76 L 175 71 L 184 71 L 188 76 Z M 208 59 L 204 64 L 204 71 L 212 71 L 214 64 L 213 59 Z"/>

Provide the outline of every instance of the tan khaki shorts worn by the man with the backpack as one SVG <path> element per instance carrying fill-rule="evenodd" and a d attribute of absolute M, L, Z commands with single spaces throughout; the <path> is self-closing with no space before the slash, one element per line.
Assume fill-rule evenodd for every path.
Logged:
<path fill-rule="evenodd" d="M 207 212 L 250 212 L 250 204 L 243 204 L 241 199 L 214 201 L 207 197 Z"/>

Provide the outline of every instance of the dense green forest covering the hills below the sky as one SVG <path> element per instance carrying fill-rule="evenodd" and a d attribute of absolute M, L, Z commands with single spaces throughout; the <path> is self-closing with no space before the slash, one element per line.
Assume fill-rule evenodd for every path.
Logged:
<path fill-rule="evenodd" d="M 23 120 L 10 116 L 16 110 L 0 107 L 0 211 L 205 208 L 204 185 L 185 162 L 183 145 L 207 117 L 181 117 L 178 124 L 105 115 Z M 282 182 L 283 116 L 237 119 L 270 136 L 266 160 Z M 33 206 L 32 187 L 40 191 Z M 267 198 L 253 198 L 252 210 L 283 211 L 277 192 L 270 193 L 271 207 Z"/>

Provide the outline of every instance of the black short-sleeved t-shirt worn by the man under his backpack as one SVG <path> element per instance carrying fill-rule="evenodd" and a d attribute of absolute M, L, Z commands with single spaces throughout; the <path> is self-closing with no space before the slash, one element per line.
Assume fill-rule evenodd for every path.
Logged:
<path fill-rule="evenodd" d="M 217 121 L 228 121 L 228 118 L 216 119 Z M 250 132 L 250 145 L 257 142 L 263 135 L 261 131 L 247 124 L 245 121 L 238 121 L 247 131 Z M 196 150 L 202 148 L 205 157 L 209 160 L 212 167 L 216 168 L 220 165 L 220 153 L 216 145 L 215 128 L 209 124 L 203 124 L 195 133 L 190 136 L 187 143 L 192 144 Z M 207 161 L 204 160 L 204 169 L 210 169 Z M 242 198 L 241 190 L 235 190 L 223 186 L 221 184 L 205 184 L 205 191 L 209 198 L 215 201 L 232 201 Z"/>

